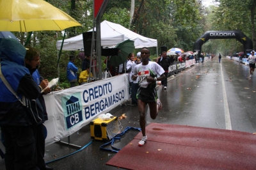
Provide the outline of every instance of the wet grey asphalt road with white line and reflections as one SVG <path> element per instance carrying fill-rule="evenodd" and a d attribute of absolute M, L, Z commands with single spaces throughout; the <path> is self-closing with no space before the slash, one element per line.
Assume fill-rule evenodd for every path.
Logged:
<path fill-rule="evenodd" d="M 214 58 L 186 68 L 175 77 L 168 78 L 166 90 L 158 89 L 163 109 L 156 120 L 151 120 L 147 114 L 147 124 L 157 122 L 256 132 L 256 73 L 252 78 L 249 75 L 247 65 L 227 58 L 222 58 L 221 63 Z M 127 118 L 120 120 L 123 129 L 140 127 L 137 107 L 122 105 L 110 113 L 118 117 L 125 113 Z M 136 130 L 127 131 L 120 141 L 116 141 L 115 147 L 123 148 L 138 133 Z M 79 130 L 79 134 L 70 135 L 70 143 L 78 146 L 85 146 L 91 141 L 90 125 Z M 77 151 L 76 148 L 54 143 L 45 148 L 45 161 L 51 162 L 77 151 L 48 166 L 55 170 L 117 169 L 106 165 L 116 153 L 100 150 L 102 144 L 103 141 L 92 141 Z M 0 160 L 0 169 L 5 169 L 3 160 Z"/>

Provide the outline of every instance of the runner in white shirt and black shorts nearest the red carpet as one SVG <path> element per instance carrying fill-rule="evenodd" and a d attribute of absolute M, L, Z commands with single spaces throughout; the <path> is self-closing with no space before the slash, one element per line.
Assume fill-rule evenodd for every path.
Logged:
<path fill-rule="evenodd" d="M 148 61 L 150 50 L 147 47 L 141 49 L 141 62 L 134 67 L 132 79 L 135 81 L 139 77 L 140 88 L 137 92 L 138 110 L 140 112 L 140 127 L 142 139 L 139 146 L 143 146 L 147 141 L 146 123 L 145 123 L 145 108 L 148 104 L 150 109 L 150 117 L 154 120 L 157 117 L 158 111 L 162 108 L 162 104 L 157 97 L 156 81 L 165 79 L 163 68 L 156 62 Z M 160 75 L 160 77 L 157 77 Z"/>

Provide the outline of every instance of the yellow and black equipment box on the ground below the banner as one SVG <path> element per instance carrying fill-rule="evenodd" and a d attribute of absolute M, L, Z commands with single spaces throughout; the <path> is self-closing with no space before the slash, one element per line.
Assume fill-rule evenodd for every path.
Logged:
<path fill-rule="evenodd" d="M 112 139 L 120 132 L 116 116 L 111 120 L 101 120 L 100 118 L 97 118 L 90 122 L 90 128 L 91 138 L 100 141 Z"/>

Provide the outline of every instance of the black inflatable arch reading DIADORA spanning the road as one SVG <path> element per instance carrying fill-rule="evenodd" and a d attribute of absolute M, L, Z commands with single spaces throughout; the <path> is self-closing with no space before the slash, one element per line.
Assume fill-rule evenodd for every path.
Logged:
<path fill-rule="evenodd" d="M 244 54 L 251 53 L 253 49 L 252 40 L 244 35 L 241 31 L 207 31 L 200 36 L 194 44 L 194 52 L 198 51 L 198 56 L 201 54 L 202 45 L 209 39 L 229 39 L 236 38 L 244 45 Z"/>

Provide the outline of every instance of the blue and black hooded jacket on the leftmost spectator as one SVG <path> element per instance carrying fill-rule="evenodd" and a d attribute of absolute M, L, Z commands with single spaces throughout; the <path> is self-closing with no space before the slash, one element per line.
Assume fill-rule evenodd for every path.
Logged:
<path fill-rule="evenodd" d="M 38 98 L 40 89 L 24 66 L 26 49 L 17 40 L 3 38 L 0 43 L 1 71 L 19 98 Z M 24 106 L 0 79 L 0 125 L 31 125 Z"/>

